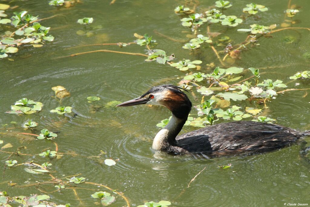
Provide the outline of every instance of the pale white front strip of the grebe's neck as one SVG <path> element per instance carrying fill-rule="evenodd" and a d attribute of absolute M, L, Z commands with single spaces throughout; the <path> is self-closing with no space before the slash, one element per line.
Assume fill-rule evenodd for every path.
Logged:
<path fill-rule="evenodd" d="M 171 130 L 175 130 L 175 128 L 177 128 L 179 122 L 180 122 L 180 119 L 178 119 L 174 115 L 172 115 L 169 123 L 156 134 L 156 136 L 153 140 L 153 145 L 152 145 L 152 148 L 154 150 L 162 150 L 163 147 L 169 145 L 168 133 Z"/>

